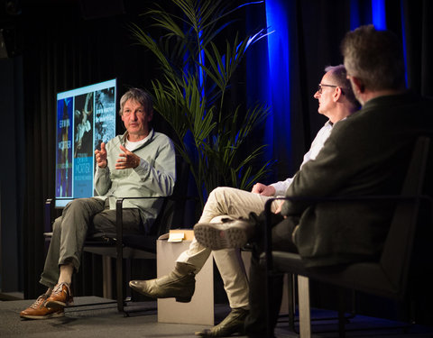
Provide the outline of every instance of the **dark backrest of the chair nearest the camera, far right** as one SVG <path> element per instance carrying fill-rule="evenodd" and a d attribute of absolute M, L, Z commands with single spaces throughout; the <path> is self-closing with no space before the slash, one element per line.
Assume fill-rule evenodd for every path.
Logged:
<path fill-rule="evenodd" d="M 423 192 L 428 163 L 429 143 L 428 137 L 419 137 L 415 144 L 401 196 L 418 197 L 397 203 L 382 251 L 382 269 L 401 292 L 404 292 L 409 276 L 412 246 L 419 222 L 419 197 Z"/>

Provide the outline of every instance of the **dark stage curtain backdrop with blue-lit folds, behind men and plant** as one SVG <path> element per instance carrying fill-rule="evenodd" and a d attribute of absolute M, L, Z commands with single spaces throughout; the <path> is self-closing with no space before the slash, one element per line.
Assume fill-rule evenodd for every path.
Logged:
<path fill-rule="evenodd" d="M 23 28 L 23 84 L 16 86 L 23 86 L 24 96 L 25 202 L 19 231 L 26 298 L 35 298 L 42 290 L 38 284 L 44 261 L 42 206 L 54 196 L 55 93 L 109 78 L 118 79 L 119 95 L 126 87 L 150 87 L 158 69 L 150 53 L 133 44 L 126 26 L 138 22 L 137 14 L 151 3 L 124 0 L 122 10 L 104 13 L 98 8 L 90 9 L 90 14 L 76 1 L 35 1 L 23 7 L 18 20 Z M 408 86 L 433 95 L 433 22 L 429 20 L 433 3 L 379 1 L 384 9 L 379 19 L 375 3 L 267 0 L 240 18 L 238 24 L 244 25 L 245 32 L 263 25 L 275 30 L 268 41 L 253 46 L 237 76 L 238 86 L 243 87 L 236 91 L 239 101 L 262 99 L 272 105 L 258 142 L 269 144 L 267 158 L 277 162 L 275 174 L 263 183 L 287 178 L 299 167 L 312 137 L 326 121 L 318 115 L 313 98 L 323 69 L 342 62 L 339 43 L 357 24 L 382 17 L 381 24 L 405 43 Z M 161 121 L 156 127 L 170 135 Z M 83 287 L 77 296 L 86 293 L 96 294 Z"/>

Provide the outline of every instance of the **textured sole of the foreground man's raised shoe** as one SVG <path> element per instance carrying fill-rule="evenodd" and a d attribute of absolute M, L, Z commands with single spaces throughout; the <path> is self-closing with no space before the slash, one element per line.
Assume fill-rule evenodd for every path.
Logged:
<path fill-rule="evenodd" d="M 248 242 L 243 228 L 220 229 L 218 224 L 196 224 L 194 236 L 197 242 L 211 250 L 242 248 Z"/>

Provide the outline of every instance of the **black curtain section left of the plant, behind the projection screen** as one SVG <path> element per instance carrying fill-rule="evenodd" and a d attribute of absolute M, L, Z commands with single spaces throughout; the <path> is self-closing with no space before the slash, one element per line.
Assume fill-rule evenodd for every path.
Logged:
<path fill-rule="evenodd" d="M 139 22 L 139 10 L 83 15 L 76 2 L 23 8 L 26 298 L 37 297 L 43 289 L 38 283 L 45 256 L 43 205 L 55 191 L 56 93 L 111 78 L 117 78 L 119 97 L 128 87 L 150 87 L 158 69 L 152 55 L 134 45 L 128 31 L 129 23 Z M 118 132 L 123 132 L 118 122 Z M 170 133 L 157 116 L 154 124 Z"/>

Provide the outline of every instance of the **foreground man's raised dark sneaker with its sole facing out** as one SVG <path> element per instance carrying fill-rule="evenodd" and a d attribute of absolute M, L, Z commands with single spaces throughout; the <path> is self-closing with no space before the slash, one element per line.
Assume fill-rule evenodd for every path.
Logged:
<path fill-rule="evenodd" d="M 211 250 L 242 248 L 253 234 L 254 225 L 244 219 L 225 223 L 198 223 L 194 226 L 197 242 Z"/>

